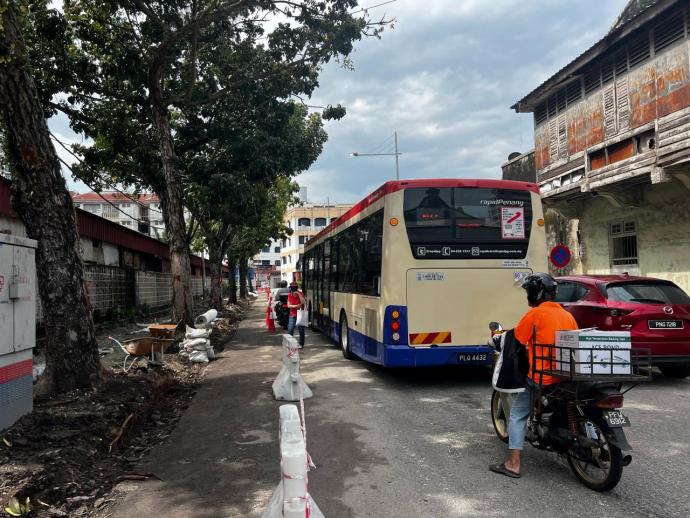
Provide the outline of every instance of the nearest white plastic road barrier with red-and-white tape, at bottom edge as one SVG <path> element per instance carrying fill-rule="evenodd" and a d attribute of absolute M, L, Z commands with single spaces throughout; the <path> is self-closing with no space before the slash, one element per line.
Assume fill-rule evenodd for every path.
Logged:
<path fill-rule="evenodd" d="M 281 481 L 261 518 L 323 518 L 308 491 L 309 456 L 296 405 L 280 407 Z"/>

